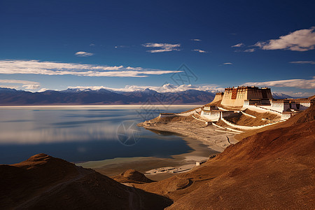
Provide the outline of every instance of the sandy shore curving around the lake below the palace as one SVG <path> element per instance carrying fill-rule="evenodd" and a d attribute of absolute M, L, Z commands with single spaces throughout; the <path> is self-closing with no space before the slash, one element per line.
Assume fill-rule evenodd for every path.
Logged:
<path fill-rule="evenodd" d="M 135 169 L 146 174 L 149 179 L 162 180 L 178 172 L 186 172 L 195 167 L 197 161 L 204 161 L 211 155 L 221 153 L 227 146 L 227 137 L 232 144 L 237 140 L 231 132 L 220 130 L 214 125 L 205 126 L 196 122 L 169 122 L 165 124 L 142 124 L 142 127 L 152 132 L 175 132 L 183 136 L 193 151 L 181 155 L 172 155 L 172 158 L 136 157 L 114 158 L 111 160 L 90 161 L 77 164 L 85 168 L 92 168 L 106 176 L 115 176 L 127 169 Z M 171 170 L 169 170 L 172 168 Z M 174 173 L 175 172 L 175 173 Z"/>

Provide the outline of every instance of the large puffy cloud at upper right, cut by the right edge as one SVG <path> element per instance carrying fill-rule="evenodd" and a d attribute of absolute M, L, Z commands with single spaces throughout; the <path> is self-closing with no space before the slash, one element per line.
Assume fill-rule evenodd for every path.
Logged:
<path fill-rule="evenodd" d="M 307 51 L 315 48 L 315 27 L 301 29 L 288 35 L 280 36 L 278 39 L 269 41 L 258 41 L 255 46 L 263 50 L 293 50 Z"/>

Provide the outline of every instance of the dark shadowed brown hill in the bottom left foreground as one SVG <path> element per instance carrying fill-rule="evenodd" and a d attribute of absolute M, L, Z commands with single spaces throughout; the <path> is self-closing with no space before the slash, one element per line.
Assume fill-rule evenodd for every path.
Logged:
<path fill-rule="evenodd" d="M 163 209 L 171 200 L 49 155 L 0 165 L 0 209 Z"/>

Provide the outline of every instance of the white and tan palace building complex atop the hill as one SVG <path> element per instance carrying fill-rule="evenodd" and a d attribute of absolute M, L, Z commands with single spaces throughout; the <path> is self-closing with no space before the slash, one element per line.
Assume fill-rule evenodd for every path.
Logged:
<path fill-rule="evenodd" d="M 314 99 L 273 99 L 270 88 L 228 87 L 225 92 L 218 92 L 214 101 L 202 107 L 200 117 L 216 122 L 232 113 L 250 109 L 258 113 L 274 113 L 287 120 L 295 113 L 303 111 Z"/>

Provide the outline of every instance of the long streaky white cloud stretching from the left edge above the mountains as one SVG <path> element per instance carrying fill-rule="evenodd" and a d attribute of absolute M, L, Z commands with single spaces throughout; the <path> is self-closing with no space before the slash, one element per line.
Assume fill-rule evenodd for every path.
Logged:
<path fill-rule="evenodd" d="M 131 66 L 97 66 L 92 64 L 40 62 L 38 60 L 0 60 L 0 73 L 3 74 L 30 73 L 44 75 L 148 77 L 149 75 L 178 72 L 181 71 L 144 69 Z"/>

